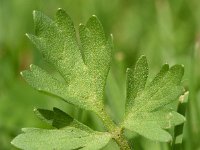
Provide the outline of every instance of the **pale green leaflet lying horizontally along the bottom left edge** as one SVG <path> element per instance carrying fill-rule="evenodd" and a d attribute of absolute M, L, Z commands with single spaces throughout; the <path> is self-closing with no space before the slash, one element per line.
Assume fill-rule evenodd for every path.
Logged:
<path fill-rule="evenodd" d="M 18 135 L 11 143 L 26 150 L 98 150 L 106 146 L 111 139 L 108 133 L 89 133 L 74 127 L 67 127 L 62 130 L 28 128 L 23 131 L 24 133 Z"/>

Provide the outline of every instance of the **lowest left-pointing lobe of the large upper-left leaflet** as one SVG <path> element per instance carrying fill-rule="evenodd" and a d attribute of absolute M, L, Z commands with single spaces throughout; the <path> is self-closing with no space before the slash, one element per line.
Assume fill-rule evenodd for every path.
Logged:
<path fill-rule="evenodd" d="M 30 70 L 21 72 L 21 75 L 26 80 L 26 82 L 28 82 L 28 84 L 40 92 L 45 92 L 50 95 L 59 97 L 65 102 L 79 106 L 81 108 L 91 108 L 91 105 L 83 101 L 83 99 L 74 97 L 73 93 L 70 92 L 69 87 L 67 87 L 65 83 L 55 79 L 45 70 L 36 65 L 30 65 Z"/>

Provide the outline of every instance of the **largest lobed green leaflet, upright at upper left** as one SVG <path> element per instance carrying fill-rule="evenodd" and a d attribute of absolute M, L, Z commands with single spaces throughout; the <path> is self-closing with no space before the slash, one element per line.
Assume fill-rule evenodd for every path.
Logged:
<path fill-rule="evenodd" d="M 79 45 L 72 20 L 64 10 L 58 9 L 55 21 L 38 11 L 33 14 L 36 35 L 27 36 L 65 82 L 34 65 L 22 76 L 35 89 L 100 115 L 112 49 L 100 21 L 92 16 L 85 26 L 80 25 Z"/>

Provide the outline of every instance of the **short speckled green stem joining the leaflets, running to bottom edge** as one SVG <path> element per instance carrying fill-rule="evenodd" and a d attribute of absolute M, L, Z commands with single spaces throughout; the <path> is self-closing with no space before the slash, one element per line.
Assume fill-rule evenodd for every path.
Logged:
<path fill-rule="evenodd" d="M 128 144 L 128 141 L 125 139 L 123 135 L 122 128 L 119 128 L 113 120 L 110 118 L 110 116 L 106 113 L 104 109 L 102 109 L 100 116 L 99 116 L 105 127 L 107 128 L 108 132 L 112 134 L 113 139 L 117 142 L 118 146 L 121 150 L 130 150 L 130 146 Z"/>

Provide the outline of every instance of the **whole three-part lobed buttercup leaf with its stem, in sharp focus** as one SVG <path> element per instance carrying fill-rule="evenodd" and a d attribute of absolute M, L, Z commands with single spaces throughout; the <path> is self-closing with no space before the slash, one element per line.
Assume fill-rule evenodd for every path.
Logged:
<path fill-rule="evenodd" d="M 62 9 L 58 9 L 55 20 L 39 11 L 34 11 L 33 16 L 35 35 L 27 36 L 63 80 L 36 65 L 22 71 L 22 77 L 40 92 L 95 113 L 102 121 L 104 132 L 94 131 L 89 125 L 80 122 L 79 117 L 70 116 L 58 108 L 35 109 L 35 114 L 53 129 L 25 128 L 12 141 L 14 146 L 28 150 L 98 150 L 113 139 L 120 149 L 130 150 L 125 130 L 151 140 L 172 140 L 165 129 L 185 121 L 174 107 L 184 91 L 181 86 L 183 66 L 169 67 L 165 64 L 147 84 L 148 62 L 145 56 L 141 56 L 134 68 L 127 69 L 125 107 L 121 106 L 124 105 L 125 96 L 119 96 L 118 85 L 108 86 L 118 90 L 117 96 L 109 96 L 109 104 L 115 105 L 113 108 L 125 109 L 125 113 L 112 113 L 113 121 L 104 106 L 105 85 L 112 58 L 112 35 L 106 38 L 96 16 L 92 16 L 85 25 L 80 24 L 79 33 L 76 33 L 71 18 Z M 113 97 L 116 99 L 112 100 Z M 112 103 L 120 98 L 121 105 Z"/>

